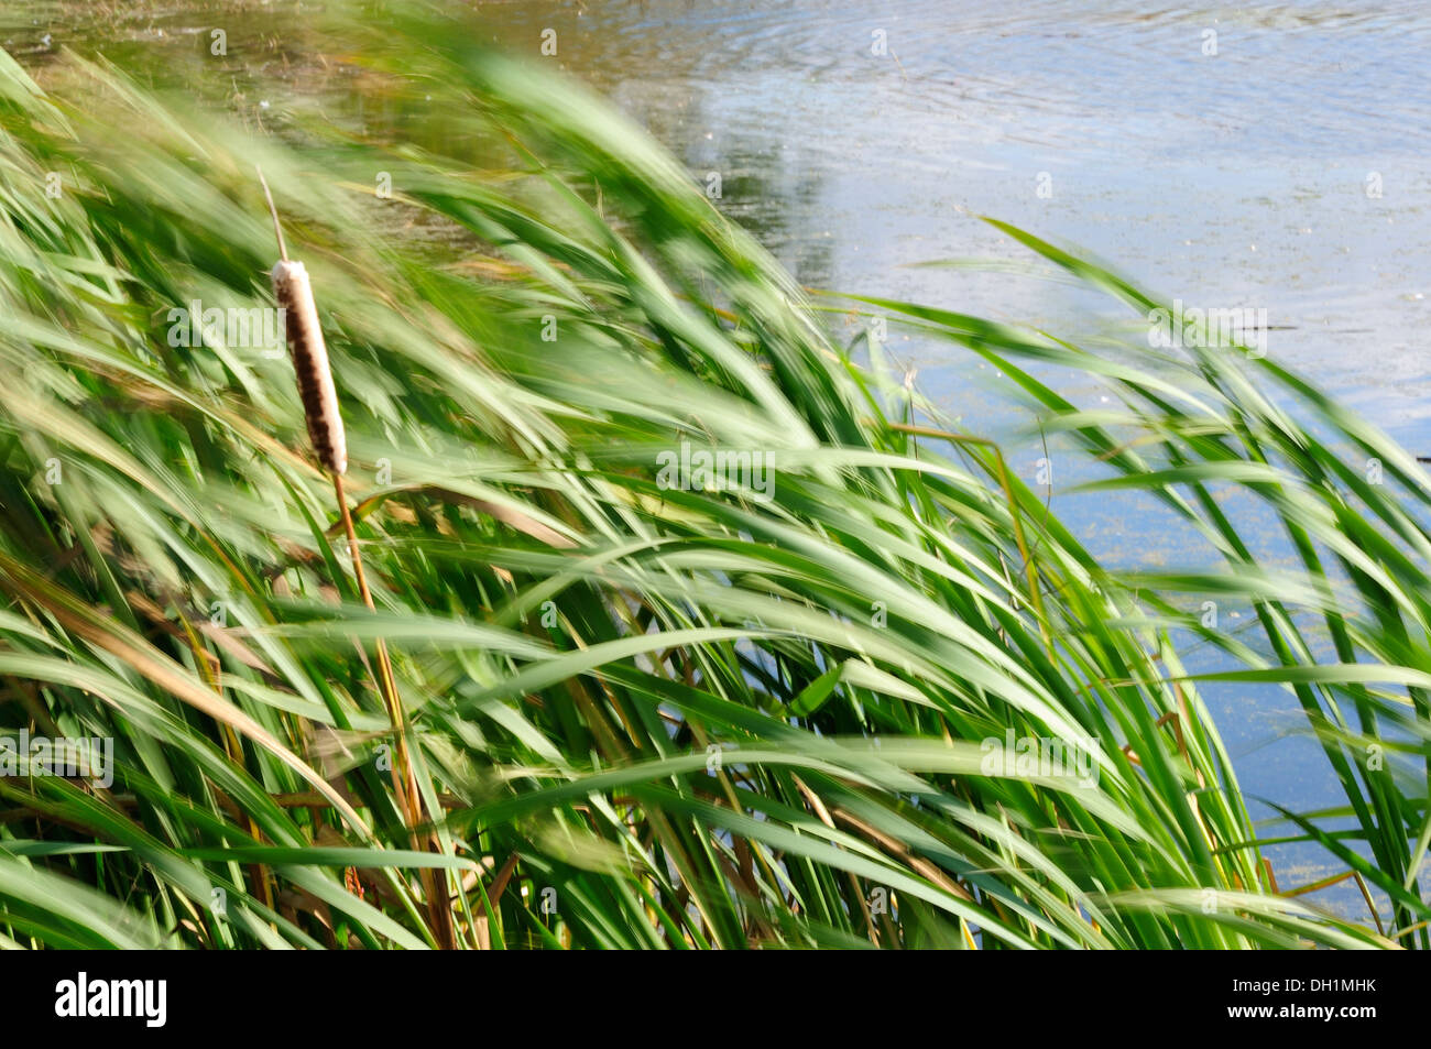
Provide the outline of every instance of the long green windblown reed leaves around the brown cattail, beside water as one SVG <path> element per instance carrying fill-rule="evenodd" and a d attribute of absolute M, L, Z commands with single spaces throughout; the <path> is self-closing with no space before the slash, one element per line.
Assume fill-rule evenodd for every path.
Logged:
<path fill-rule="evenodd" d="M 1427 946 L 1411 457 L 1234 349 L 1145 366 L 866 301 L 1226 561 L 1115 574 L 996 445 L 857 366 L 638 129 L 391 17 L 335 39 L 378 102 L 431 96 L 448 152 L 303 113 L 256 135 L 74 57 L 52 96 L 0 56 L 0 724 L 116 760 L 107 790 L 0 779 L 6 945 L 432 946 L 435 866 L 468 947 Z M 166 338 L 193 299 L 272 305 L 255 163 L 323 313 L 375 613 L 288 361 Z M 771 455 L 771 498 L 660 485 L 683 442 Z M 1256 562 L 1225 487 L 1295 571 Z M 1265 644 L 1182 592 L 1252 604 Z M 1385 916 L 1274 890 L 1176 631 L 1302 703 L 1347 804 L 1262 833 L 1324 844 Z M 379 638 L 434 853 L 388 787 Z M 1096 776 L 992 767 L 1007 733 L 1095 740 Z"/>

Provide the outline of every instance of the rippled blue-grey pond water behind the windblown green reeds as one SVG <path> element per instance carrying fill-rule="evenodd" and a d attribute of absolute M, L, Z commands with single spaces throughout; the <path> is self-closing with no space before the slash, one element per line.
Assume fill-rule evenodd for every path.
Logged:
<path fill-rule="evenodd" d="M 1271 356 L 1431 454 L 1431 4 L 454 7 L 475 7 L 474 31 L 532 57 L 554 30 L 545 60 L 614 99 L 701 182 L 717 173 L 721 208 L 806 285 L 1075 336 L 1118 316 L 1007 266 L 916 265 L 1020 258 L 973 218 L 993 215 L 1166 298 L 1266 309 Z M 205 31 L 216 9 L 232 37 L 269 14 L 136 9 L 97 24 L 84 4 L 11 3 L 0 34 L 21 57 L 74 42 L 135 53 Z M 892 351 L 969 425 L 1012 422 L 957 351 L 900 338 Z M 1176 534 L 1135 504 L 1055 505 L 1116 562 L 1179 564 Z M 1251 794 L 1299 810 L 1338 800 L 1289 697 L 1208 696 Z M 1311 849 L 1272 857 L 1284 886 L 1332 870 Z M 1354 890 L 1322 900 L 1365 913 Z"/>

